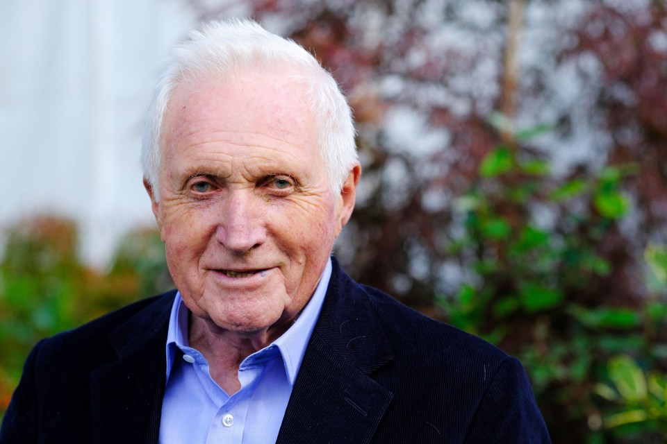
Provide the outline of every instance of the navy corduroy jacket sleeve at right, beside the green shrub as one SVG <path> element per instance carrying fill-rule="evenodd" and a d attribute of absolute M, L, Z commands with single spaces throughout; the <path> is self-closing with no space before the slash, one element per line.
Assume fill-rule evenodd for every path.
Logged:
<path fill-rule="evenodd" d="M 465 443 L 551 443 L 530 382 L 516 358 L 502 361 L 493 375 Z"/>

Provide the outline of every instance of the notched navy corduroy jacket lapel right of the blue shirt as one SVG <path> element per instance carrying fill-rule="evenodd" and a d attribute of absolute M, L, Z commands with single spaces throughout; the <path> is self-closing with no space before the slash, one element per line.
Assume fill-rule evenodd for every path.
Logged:
<path fill-rule="evenodd" d="M 370 373 L 391 359 L 372 302 L 334 259 L 277 443 L 370 442 L 392 398 Z"/>

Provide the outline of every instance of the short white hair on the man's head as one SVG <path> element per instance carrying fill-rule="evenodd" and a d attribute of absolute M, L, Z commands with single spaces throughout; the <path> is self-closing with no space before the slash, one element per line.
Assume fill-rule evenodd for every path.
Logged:
<path fill-rule="evenodd" d="M 156 85 L 144 128 L 141 163 L 144 178 L 160 200 L 160 137 L 170 97 L 183 81 L 206 76 L 233 81 L 228 74 L 240 68 L 288 66 L 300 74 L 297 81 L 308 85 L 306 96 L 319 132 L 320 156 L 329 174 L 329 184 L 340 191 L 357 160 L 352 111 L 336 80 L 302 46 L 269 33 L 249 19 L 231 19 L 205 24 L 191 31 L 174 46 L 167 66 Z"/>

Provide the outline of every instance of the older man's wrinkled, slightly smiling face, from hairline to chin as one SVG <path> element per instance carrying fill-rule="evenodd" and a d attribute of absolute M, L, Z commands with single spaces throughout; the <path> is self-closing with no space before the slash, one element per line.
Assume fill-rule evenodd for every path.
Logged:
<path fill-rule="evenodd" d="M 359 167 L 331 190 L 305 87 L 276 74 L 183 83 L 165 116 L 153 209 L 167 264 L 192 313 L 222 330 L 288 325 L 354 207 Z"/>

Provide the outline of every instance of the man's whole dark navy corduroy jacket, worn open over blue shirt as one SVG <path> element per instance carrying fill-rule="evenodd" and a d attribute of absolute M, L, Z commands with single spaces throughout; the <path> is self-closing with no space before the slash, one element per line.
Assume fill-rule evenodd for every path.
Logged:
<path fill-rule="evenodd" d="M 174 291 L 46 339 L 0 444 L 157 443 Z M 338 266 L 278 443 L 549 443 L 525 371 Z"/>

